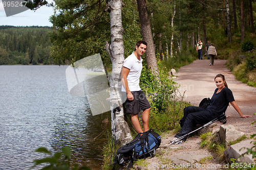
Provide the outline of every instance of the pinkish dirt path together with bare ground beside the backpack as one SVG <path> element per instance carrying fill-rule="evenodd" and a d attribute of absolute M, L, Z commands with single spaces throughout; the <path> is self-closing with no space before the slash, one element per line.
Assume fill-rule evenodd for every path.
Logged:
<path fill-rule="evenodd" d="M 198 106 L 203 98 L 211 98 L 217 88 L 214 78 L 217 74 L 223 74 L 228 87 L 232 90 L 234 99 L 241 108 L 243 114 L 253 115 L 256 112 L 256 88 L 235 79 L 232 72 L 225 66 L 226 60 L 216 60 L 215 65 L 209 66 L 209 60 L 196 60 L 192 64 L 181 67 L 178 70 L 178 77 L 174 81 L 180 84 L 179 92 L 185 92 L 184 100 Z M 256 128 L 251 123 L 256 116 L 240 118 L 240 115 L 230 105 L 226 114 L 227 124 L 234 125 L 249 137 L 256 133 Z M 222 124 L 217 122 L 215 129 Z M 175 165 L 181 165 L 178 169 L 227 169 L 224 168 L 227 162 L 220 162 L 219 158 L 210 153 L 207 149 L 201 149 L 199 136 L 191 136 L 184 143 L 178 145 L 167 144 L 174 137 L 174 132 L 162 134 L 162 142 L 157 156 L 147 158 L 146 165 L 136 165 L 135 169 L 176 169 Z M 209 158 L 203 161 L 202 158 Z M 201 167 L 201 168 L 200 168 Z"/>

